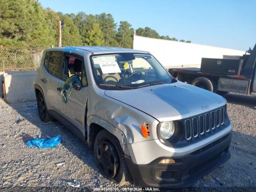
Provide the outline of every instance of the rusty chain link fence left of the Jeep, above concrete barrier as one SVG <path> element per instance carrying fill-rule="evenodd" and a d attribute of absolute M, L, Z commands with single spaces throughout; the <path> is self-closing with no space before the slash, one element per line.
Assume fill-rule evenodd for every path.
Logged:
<path fill-rule="evenodd" d="M 44 48 L 0 47 L 0 71 L 36 70 Z"/>

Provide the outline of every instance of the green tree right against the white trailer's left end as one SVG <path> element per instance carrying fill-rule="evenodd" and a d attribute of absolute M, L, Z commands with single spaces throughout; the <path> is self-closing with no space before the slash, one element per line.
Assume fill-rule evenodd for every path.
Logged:
<path fill-rule="evenodd" d="M 120 47 L 132 48 L 133 28 L 127 21 L 120 21 L 117 38 Z"/>

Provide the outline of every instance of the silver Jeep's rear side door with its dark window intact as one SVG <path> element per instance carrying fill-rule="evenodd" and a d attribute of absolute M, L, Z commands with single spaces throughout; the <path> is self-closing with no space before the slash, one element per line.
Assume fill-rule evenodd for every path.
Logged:
<path fill-rule="evenodd" d="M 44 82 L 43 90 L 48 110 L 57 110 L 58 107 L 56 100 L 56 81 L 61 76 L 62 55 L 63 53 L 58 51 L 46 52 L 44 63 L 46 73 L 42 81 Z"/>

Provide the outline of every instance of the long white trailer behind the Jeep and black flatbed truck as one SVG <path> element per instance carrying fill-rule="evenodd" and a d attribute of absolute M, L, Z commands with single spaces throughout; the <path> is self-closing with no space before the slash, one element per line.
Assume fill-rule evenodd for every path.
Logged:
<path fill-rule="evenodd" d="M 133 48 L 148 51 L 165 67 L 193 66 L 200 67 L 202 58 L 223 58 L 223 55 L 242 56 L 245 51 L 162 40 L 134 35 Z"/>

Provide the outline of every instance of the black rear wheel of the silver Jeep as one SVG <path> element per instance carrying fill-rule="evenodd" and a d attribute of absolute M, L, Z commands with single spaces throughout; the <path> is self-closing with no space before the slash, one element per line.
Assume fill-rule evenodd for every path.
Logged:
<path fill-rule="evenodd" d="M 52 120 L 52 117 L 48 113 L 48 109 L 44 101 L 44 96 L 41 92 L 39 92 L 37 95 L 37 109 L 41 121 L 49 122 Z"/>

